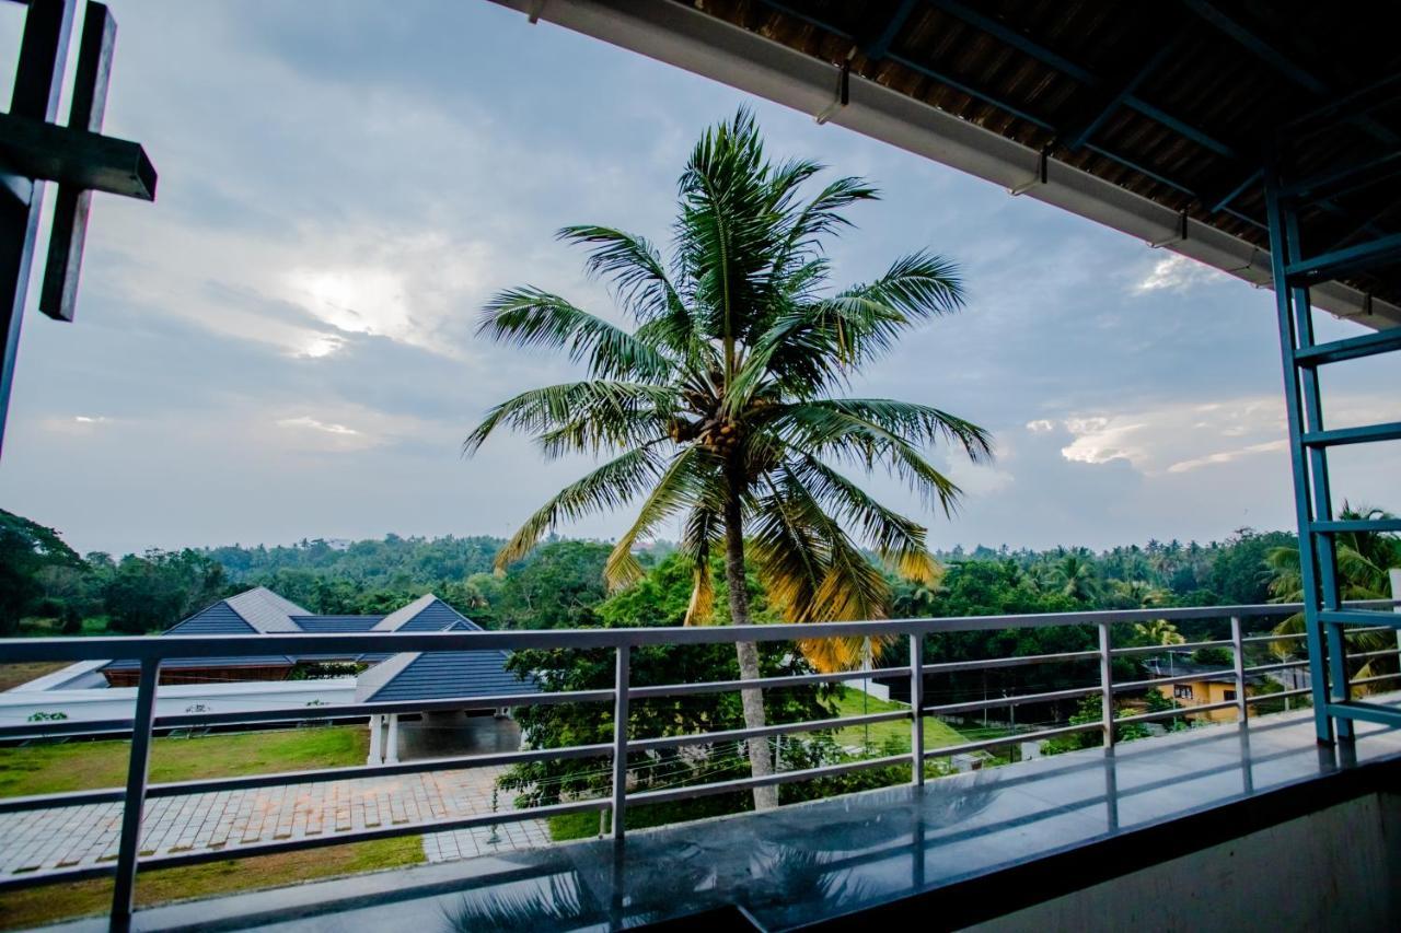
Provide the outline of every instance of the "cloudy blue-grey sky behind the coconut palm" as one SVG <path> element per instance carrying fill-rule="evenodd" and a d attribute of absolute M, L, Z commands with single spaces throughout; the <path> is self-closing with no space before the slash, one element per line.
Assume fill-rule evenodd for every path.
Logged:
<path fill-rule="evenodd" d="M 507 436 L 464 459 L 462 438 L 492 403 L 580 373 L 476 339 L 482 304 L 528 283 L 612 317 L 553 231 L 665 242 L 692 143 L 741 105 L 775 156 L 884 192 L 832 244 L 834 282 L 923 248 L 962 269 L 967 310 L 852 387 L 993 431 L 986 466 L 932 451 L 965 490 L 951 518 L 863 479 L 932 545 L 1293 527 L 1267 290 L 482 0 L 109 6 L 105 132 L 146 146 L 158 196 L 95 198 L 76 324 L 31 294 L 0 459 L 0 507 L 81 552 L 511 534 L 588 461 Z M 20 11 L 0 4 L 0 60 Z M 1359 332 L 1324 318 L 1320 339 Z M 1397 377 L 1331 368 L 1328 424 L 1401 419 Z M 1401 509 L 1394 451 L 1332 462 L 1338 499 Z"/>

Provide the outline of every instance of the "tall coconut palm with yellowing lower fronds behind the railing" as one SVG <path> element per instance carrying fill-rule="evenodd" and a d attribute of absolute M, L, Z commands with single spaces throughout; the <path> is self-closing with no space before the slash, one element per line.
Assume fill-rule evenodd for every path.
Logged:
<path fill-rule="evenodd" d="M 691 153 L 670 262 L 643 237 L 611 227 L 559 233 L 588 248 L 587 270 L 611 282 L 632 329 L 531 286 L 488 304 L 479 333 L 565 350 L 588 378 L 495 406 L 465 451 L 503 426 L 534 434 L 546 457 L 622 451 L 532 514 L 497 555 L 499 567 L 562 521 L 642 497 L 607 579 L 614 587 L 642 579 L 633 545 L 679 520 L 693 574 L 688 623 L 712 618 L 717 552 L 734 625 L 751 621 L 747 558 L 793 622 L 885 615 L 890 584 L 857 541 L 901 577 L 937 580 L 925 527 L 834 464 L 884 466 L 948 513 L 960 489 L 923 448 L 950 441 L 978 461 L 991 457 L 988 433 L 929 405 L 834 392 L 906 331 L 957 311 L 962 287 L 954 263 L 913 252 L 873 282 L 828 290 L 824 240 L 850 226 L 846 207 L 877 192 L 839 178 L 804 199 L 821 168 L 768 161 L 752 116 L 740 111 Z M 860 660 L 860 644 L 803 649 L 820 668 L 841 670 Z M 740 675 L 757 679 L 755 644 L 737 650 Z M 764 726 L 762 693 L 741 691 L 741 699 L 745 723 Z M 768 741 L 748 747 L 754 775 L 772 773 Z M 773 787 L 755 792 L 759 807 L 776 800 Z"/>

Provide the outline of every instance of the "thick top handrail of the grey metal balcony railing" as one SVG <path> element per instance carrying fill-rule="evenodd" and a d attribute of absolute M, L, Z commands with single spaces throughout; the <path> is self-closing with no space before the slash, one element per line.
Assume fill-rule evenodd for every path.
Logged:
<path fill-rule="evenodd" d="M 1394 600 L 1366 600 L 1349 607 L 1391 607 Z M 499 632 L 381 632 L 339 635 L 259 635 L 259 654 L 336 654 L 382 651 L 500 651 L 513 649 L 605 649 L 650 644 L 731 644 L 736 642 L 801 642 L 871 635 L 934 635 L 996 629 L 1045 629 L 1070 625 L 1150 622 L 1156 619 L 1223 619 L 1292 615 L 1302 604 L 1187 607 L 1173 609 L 1101 609 L 1023 615 L 943 616 L 878 622 L 811 622 L 801 625 L 698 625 L 640 629 L 539 629 Z M 249 640 L 237 635 L 165 635 L 161 637 L 43 637 L 0 642 L 0 664 L 13 661 L 91 661 L 247 656 Z"/>

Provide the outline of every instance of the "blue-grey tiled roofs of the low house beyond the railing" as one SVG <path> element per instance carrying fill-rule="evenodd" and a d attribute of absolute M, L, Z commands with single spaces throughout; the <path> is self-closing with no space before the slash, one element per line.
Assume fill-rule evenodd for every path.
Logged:
<path fill-rule="evenodd" d="M 315 615 L 272 590 L 258 587 L 200 609 L 163 635 L 272 635 L 290 632 L 453 632 L 481 626 L 436 595 L 426 594 L 389 615 Z M 534 681 L 506 670 L 506 651 L 378 653 L 346 658 L 339 654 L 261 654 L 220 658 L 171 658 L 164 668 L 291 665 L 298 661 L 353 660 L 371 664 L 356 682 L 356 699 L 412 700 L 453 696 L 534 693 Z M 112 661 L 102 670 L 130 670 L 136 661 Z"/>

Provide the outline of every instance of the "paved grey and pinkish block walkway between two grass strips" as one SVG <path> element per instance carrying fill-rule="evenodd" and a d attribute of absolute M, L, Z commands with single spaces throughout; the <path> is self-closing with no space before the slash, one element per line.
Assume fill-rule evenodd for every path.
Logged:
<path fill-rule="evenodd" d="M 469 768 L 149 800 L 142 855 L 235 850 L 275 839 L 492 813 L 492 789 L 502 770 Z M 497 811 L 510 810 L 510 794 L 499 794 Z M 120 803 L 0 814 L 0 876 L 115 859 L 120 825 Z M 489 827 L 426 834 L 423 852 L 430 862 L 446 862 L 548 842 L 545 821 L 530 820 L 503 825 L 495 836 Z"/>

